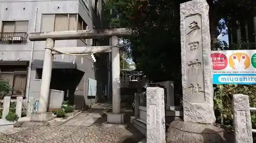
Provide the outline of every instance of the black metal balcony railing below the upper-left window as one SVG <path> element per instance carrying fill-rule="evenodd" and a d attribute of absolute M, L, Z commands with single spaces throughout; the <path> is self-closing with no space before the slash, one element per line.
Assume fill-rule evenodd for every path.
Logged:
<path fill-rule="evenodd" d="M 4 44 L 24 44 L 27 43 L 28 34 L 25 32 L 0 33 L 0 43 Z"/>

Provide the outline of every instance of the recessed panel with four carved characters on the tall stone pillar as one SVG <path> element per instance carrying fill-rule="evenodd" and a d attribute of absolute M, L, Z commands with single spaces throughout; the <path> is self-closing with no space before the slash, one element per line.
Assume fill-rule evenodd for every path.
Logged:
<path fill-rule="evenodd" d="M 186 97 L 190 103 L 205 102 L 201 26 L 200 14 L 185 18 Z"/>

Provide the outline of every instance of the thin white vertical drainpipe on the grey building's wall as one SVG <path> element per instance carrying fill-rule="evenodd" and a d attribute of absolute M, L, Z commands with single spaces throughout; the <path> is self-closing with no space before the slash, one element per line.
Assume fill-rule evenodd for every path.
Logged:
<path fill-rule="evenodd" d="M 34 29 L 33 33 L 35 32 L 36 28 L 36 18 L 37 18 L 37 10 L 35 10 L 35 20 L 34 20 Z M 33 52 L 34 52 L 34 41 L 32 42 L 32 47 L 31 47 L 31 56 L 30 56 L 30 61 L 29 61 L 29 70 L 28 70 L 28 78 L 27 78 L 27 89 L 26 89 L 26 99 L 29 99 L 29 88 L 30 88 L 30 78 L 31 78 L 31 69 L 32 69 L 32 61 L 33 61 Z"/>

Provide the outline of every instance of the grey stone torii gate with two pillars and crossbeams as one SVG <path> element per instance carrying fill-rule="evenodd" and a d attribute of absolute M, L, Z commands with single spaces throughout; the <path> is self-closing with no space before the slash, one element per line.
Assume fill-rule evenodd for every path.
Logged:
<path fill-rule="evenodd" d="M 126 28 L 115 28 L 107 30 L 83 30 L 83 31 L 59 31 L 59 32 L 39 32 L 30 33 L 30 41 L 46 41 L 45 59 L 42 69 L 41 87 L 39 95 L 39 107 L 32 115 L 31 121 L 45 122 L 52 120 L 52 114 L 47 113 L 53 54 L 60 54 L 56 51 L 67 53 L 94 53 L 98 51 L 111 52 L 112 57 L 112 104 L 113 112 L 108 114 L 109 123 L 122 124 L 124 115 L 120 113 L 120 57 L 118 37 L 132 36 Z M 111 37 L 110 46 L 84 46 L 84 47 L 56 47 L 55 40 L 75 40 L 75 39 L 100 39 Z"/>

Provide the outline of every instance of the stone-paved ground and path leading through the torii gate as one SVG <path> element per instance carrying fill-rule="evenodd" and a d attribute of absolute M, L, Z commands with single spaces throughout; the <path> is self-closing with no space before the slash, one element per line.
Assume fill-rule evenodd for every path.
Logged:
<path fill-rule="evenodd" d="M 0 134 L 0 143 L 137 143 L 144 138 L 129 123 L 129 118 L 133 115 L 130 107 L 122 107 L 122 111 L 127 115 L 126 125 L 106 124 L 105 112 L 110 108 L 111 106 L 107 103 L 98 104 L 58 126 L 14 128 L 12 132 Z"/>

